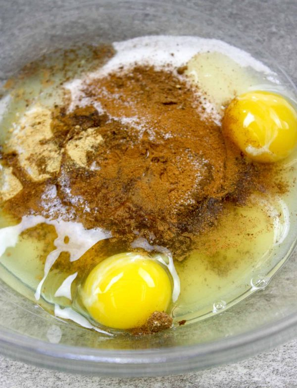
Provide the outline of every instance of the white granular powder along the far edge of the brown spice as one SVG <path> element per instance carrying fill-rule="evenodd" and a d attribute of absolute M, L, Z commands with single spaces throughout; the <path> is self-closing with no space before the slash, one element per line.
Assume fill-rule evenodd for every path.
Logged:
<path fill-rule="evenodd" d="M 113 43 L 116 54 L 101 68 L 95 72 L 89 73 L 84 79 L 75 79 L 64 85 L 71 94 L 71 104 L 69 110 L 73 110 L 76 106 L 94 105 L 99 113 L 103 113 L 104 109 L 100 103 L 94 103 L 92 98 L 84 95 L 83 88 L 86 80 L 92 80 L 107 76 L 111 72 L 119 72 L 119 67 L 122 71 L 138 65 L 153 65 L 156 68 L 168 68 L 168 70 L 176 69 L 185 65 L 194 55 L 202 52 L 219 52 L 229 56 L 242 67 L 251 67 L 255 71 L 264 73 L 271 81 L 277 82 L 276 74 L 273 73 L 267 66 L 253 58 L 246 51 L 228 45 L 225 42 L 215 39 L 204 39 L 191 36 L 146 36 L 130 39 L 123 42 Z M 184 79 L 184 76 L 179 76 Z M 100 90 L 100 94 L 106 95 L 105 90 Z M 108 97 L 108 96 L 105 96 Z M 116 97 L 115 95 L 109 97 Z M 204 112 L 200 112 L 206 117 L 211 117 L 213 121 L 220 124 L 220 113 L 217 111 L 213 103 L 208 99 L 201 99 L 201 95 L 197 95 L 198 100 L 202 103 Z M 197 109 L 201 106 L 197 105 Z M 105 112 L 108 113 L 108 112 Z M 140 124 L 140 121 L 134 118 L 112 117 L 123 124 L 130 121 L 130 124 L 137 126 L 140 129 L 140 136 L 145 130 L 145 126 Z M 142 119 L 143 122 L 143 119 Z M 153 135 L 151 134 L 153 139 Z"/>

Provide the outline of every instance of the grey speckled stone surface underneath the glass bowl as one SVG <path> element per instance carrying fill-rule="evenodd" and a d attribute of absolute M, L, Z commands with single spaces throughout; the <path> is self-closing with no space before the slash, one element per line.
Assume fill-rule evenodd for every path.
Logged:
<path fill-rule="evenodd" d="M 169 1 L 167 1 L 169 2 Z M 172 0 L 185 6 L 203 4 L 208 15 L 219 15 L 239 34 L 247 34 L 273 54 L 297 83 L 296 0 Z M 0 32 L 20 23 L 26 15 L 36 17 L 61 4 L 78 0 L 0 0 Z M 259 15 L 261 23 L 259 23 Z M 245 361 L 180 376 L 143 379 L 109 379 L 54 372 L 0 356 L 0 388 L 91 387 L 297 387 L 297 340 Z"/>

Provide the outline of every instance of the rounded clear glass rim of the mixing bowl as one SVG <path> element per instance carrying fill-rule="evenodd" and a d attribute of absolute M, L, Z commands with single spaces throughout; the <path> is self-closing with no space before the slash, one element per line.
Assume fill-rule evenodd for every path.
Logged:
<path fill-rule="evenodd" d="M 88 5 L 112 8 L 114 4 L 127 5 L 128 3 L 135 10 L 143 10 L 145 5 L 154 5 L 157 9 L 159 1 L 103 0 L 97 2 L 83 0 L 71 9 Z M 168 1 L 162 1 L 162 5 L 184 9 L 183 6 L 173 5 Z M 61 8 L 63 9 L 63 6 Z M 192 4 L 187 5 L 187 10 L 197 12 L 199 7 Z M 206 17 L 210 16 L 206 15 Z M 43 17 L 40 18 L 41 21 L 42 19 Z M 24 22 L 24 25 L 29 21 Z M 265 52 L 265 54 L 267 53 Z M 271 57 L 269 54 L 268 56 Z M 278 65 L 276 67 L 297 92 L 297 86 L 284 69 Z M 287 260 L 290 259 L 294 251 L 295 248 L 291 249 Z M 37 366 L 71 373 L 114 377 L 161 376 L 191 372 L 226 362 L 238 361 L 253 355 L 255 351 L 259 352 L 276 346 L 295 335 L 297 335 L 297 313 L 225 339 L 196 345 L 144 350 L 102 350 L 59 343 L 53 344 L 0 327 L 0 352 L 5 356 Z"/>

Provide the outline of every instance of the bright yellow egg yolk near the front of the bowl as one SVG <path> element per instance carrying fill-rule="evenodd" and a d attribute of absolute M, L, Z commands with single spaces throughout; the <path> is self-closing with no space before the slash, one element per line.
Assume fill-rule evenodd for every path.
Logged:
<path fill-rule="evenodd" d="M 101 261 L 88 275 L 81 292 L 90 315 L 115 329 L 146 323 L 154 311 L 166 311 L 172 286 L 166 270 L 148 256 L 120 253 Z"/>

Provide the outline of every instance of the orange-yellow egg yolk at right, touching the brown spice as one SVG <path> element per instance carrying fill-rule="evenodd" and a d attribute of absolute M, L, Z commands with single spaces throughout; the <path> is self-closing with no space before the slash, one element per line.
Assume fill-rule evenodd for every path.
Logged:
<path fill-rule="evenodd" d="M 222 128 L 252 160 L 275 162 L 296 146 L 297 112 L 280 95 L 248 92 L 231 101 Z"/>

